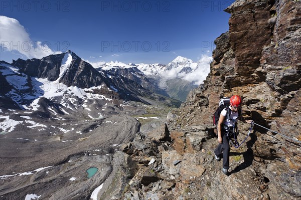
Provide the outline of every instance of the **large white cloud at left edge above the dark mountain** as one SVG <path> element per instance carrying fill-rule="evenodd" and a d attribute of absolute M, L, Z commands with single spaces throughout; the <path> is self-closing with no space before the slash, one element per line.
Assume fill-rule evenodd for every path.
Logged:
<path fill-rule="evenodd" d="M 49 42 L 32 41 L 25 28 L 14 18 L 0 16 L 1 50 L 17 51 L 28 58 L 43 58 L 50 54 L 62 52 L 52 51 Z"/>

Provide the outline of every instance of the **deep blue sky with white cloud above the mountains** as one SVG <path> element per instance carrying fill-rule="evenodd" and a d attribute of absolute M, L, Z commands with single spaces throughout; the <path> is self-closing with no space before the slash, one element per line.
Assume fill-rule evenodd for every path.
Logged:
<path fill-rule="evenodd" d="M 0 60 L 70 49 L 93 63 L 198 61 L 228 30 L 223 10 L 233 2 L 2 1 Z"/>

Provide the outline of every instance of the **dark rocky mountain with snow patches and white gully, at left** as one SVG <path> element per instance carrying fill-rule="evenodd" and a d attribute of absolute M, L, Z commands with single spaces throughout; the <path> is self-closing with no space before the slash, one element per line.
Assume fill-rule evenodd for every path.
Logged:
<path fill-rule="evenodd" d="M 147 103 L 145 97 L 152 97 L 155 101 L 164 99 L 169 105 L 179 105 L 174 100 L 168 100 L 168 95 L 158 96 L 152 80 L 136 67 L 96 70 L 71 51 L 42 59 L 18 59 L 11 64 L 1 61 L 0 80 L 3 86 L 0 91 L 1 106 L 10 109 L 39 110 L 40 101 L 44 98 L 50 100 L 47 101 L 51 104 L 48 111 L 59 107 L 76 110 L 85 99 Z M 56 112 L 64 111 L 60 109 Z"/>

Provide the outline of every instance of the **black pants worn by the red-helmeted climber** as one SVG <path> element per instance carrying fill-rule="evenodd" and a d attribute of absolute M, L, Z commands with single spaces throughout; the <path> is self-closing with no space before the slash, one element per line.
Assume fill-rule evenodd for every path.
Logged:
<path fill-rule="evenodd" d="M 229 139 L 224 131 L 222 131 L 222 138 L 222 143 L 216 147 L 214 153 L 220 157 L 223 154 L 223 168 L 229 169 L 230 146 Z"/>

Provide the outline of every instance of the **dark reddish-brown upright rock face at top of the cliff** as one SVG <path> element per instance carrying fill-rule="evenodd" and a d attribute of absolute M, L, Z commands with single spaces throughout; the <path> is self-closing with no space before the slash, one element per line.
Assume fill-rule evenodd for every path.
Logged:
<path fill-rule="evenodd" d="M 271 1 L 237 1 L 226 9 L 230 44 L 235 54 L 238 73 L 252 73 L 260 64 L 262 48 L 270 43 L 268 24 Z"/>

